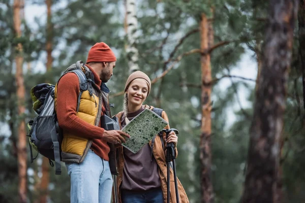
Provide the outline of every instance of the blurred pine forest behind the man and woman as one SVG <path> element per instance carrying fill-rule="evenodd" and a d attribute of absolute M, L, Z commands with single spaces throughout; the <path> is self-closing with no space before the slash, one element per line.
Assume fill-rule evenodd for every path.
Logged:
<path fill-rule="evenodd" d="M 279 75 L 286 85 L 285 114 L 270 113 L 283 120 L 281 130 L 266 129 L 262 134 L 270 132 L 273 139 L 257 145 L 269 154 L 275 146 L 278 153 L 263 162 L 248 154 L 257 144 L 250 139 L 258 126 L 254 107 L 266 104 L 257 98 L 268 86 L 258 81 L 277 80 L 271 77 L 276 69 L 260 74 L 269 70 L 268 58 L 278 54 L 264 49 L 277 8 L 292 16 L 293 38 L 288 36 L 291 46 L 284 47 L 291 57 L 278 57 L 289 68 Z M 255 167 L 261 174 L 272 168 L 277 177 L 268 174 L 278 188 L 266 190 L 268 197 L 302 202 L 304 11 L 301 0 L 1 0 L 0 202 L 69 202 L 64 164 L 57 176 L 43 156 L 29 162 L 26 123 L 35 116 L 29 92 L 39 83 L 55 84 L 70 64 L 86 61 L 90 47 L 102 41 L 117 56 L 107 83 L 112 114 L 121 110 L 129 73 L 147 73 L 153 85 L 145 103 L 164 109 L 180 132 L 177 176 L 190 202 L 248 202 L 251 162 L 262 163 Z"/>

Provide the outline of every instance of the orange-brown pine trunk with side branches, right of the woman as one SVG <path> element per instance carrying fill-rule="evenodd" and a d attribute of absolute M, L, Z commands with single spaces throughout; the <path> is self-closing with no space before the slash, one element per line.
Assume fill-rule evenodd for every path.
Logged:
<path fill-rule="evenodd" d="M 200 161 L 201 161 L 201 202 L 214 201 L 211 182 L 211 64 L 210 54 L 206 52 L 213 44 L 213 31 L 211 22 L 207 21 L 205 14 L 201 15 L 201 136 L 200 136 Z"/>

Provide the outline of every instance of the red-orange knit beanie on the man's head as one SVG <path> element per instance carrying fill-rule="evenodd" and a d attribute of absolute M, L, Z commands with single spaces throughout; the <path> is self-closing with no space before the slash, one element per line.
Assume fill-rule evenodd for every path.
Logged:
<path fill-rule="evenodd" d="M 110 47 L 104 42 L 96 43 L 89 50 L 87 63 L 89 62 L 112 62 L 116 57 Z"/>

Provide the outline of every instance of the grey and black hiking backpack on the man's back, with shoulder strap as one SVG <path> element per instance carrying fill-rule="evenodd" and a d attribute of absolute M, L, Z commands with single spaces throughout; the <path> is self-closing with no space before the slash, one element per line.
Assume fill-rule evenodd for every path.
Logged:
<path fill-rule="evenodd" d="M 85 71 L 86 74 L 84 74 L 83 71 Z M 86 90 L 89 90 L 90 94 L 92 94 L 94 76 L 82 61 L 77 61 L 75 64 L 68 67 L 60 78 L 67 73 L 75 73 L 79 79 L 80 93 L 77 102 L 78 112 L 81 94 Z M 38 153 L 40 153 L 49 159 L 49 163 L 52 167 L 54 166 L 52 161 L 55 161 L 55 174 L 60 175 L 63 131 L 58 125 L 54 108 L 54 90 L 55 85 L 48 83 L 38 84 L 31 89 L 33 109 L 38 115 L 27 123 L 29 130 L 27 136 L 31 153 L 31 163 L 33 163 L 34 159 L 38 156 Z M 35 158 L 33 158 L 32 148 L 38 152 Z"/>

